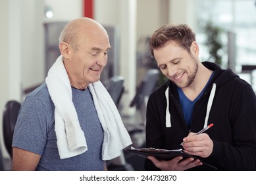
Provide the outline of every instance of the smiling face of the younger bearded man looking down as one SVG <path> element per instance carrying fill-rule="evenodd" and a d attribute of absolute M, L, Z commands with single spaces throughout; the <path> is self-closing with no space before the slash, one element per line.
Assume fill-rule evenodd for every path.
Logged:
<path fill-rule="evenodd" d="M 198 70 L 197 44 L 192 43 L 192 53 L 180 46 L 175 41 L 168 41 L 158 49 L 153 50 L 157 65 L 161 72 L 173 81 L 178 87 L 189 87 L 195 80 Z"/>

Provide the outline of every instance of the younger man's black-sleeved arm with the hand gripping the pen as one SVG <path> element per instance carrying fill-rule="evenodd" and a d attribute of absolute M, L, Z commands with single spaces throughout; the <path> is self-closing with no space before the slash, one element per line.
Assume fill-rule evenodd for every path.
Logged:
<path fill-rule="evenodd" d="M 206 158 L 220 170 L 256 169 L 256 97 L 250 85 L 238 89 L 228 101 L 224 101 L 226 95 L 221 99 L 229 109 L 220 104 L 215 107 L 219 110 L 213 111 L 217 114 L 210 121 L 216 127 L 184 139 L 186 152 Z"/>

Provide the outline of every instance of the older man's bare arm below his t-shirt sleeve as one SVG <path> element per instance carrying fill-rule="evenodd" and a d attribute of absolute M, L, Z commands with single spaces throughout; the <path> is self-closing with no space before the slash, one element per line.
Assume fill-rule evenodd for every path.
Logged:
<path fill-rule="evenodd" d="M 41 156 L 28 150 L 13 147 L 13 171 L 33 171 L 38 166 Z"/>

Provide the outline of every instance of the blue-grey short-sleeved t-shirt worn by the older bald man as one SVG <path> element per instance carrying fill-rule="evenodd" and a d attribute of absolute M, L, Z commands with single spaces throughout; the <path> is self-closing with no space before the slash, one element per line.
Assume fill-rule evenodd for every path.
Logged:
<path fill-rule="evenodd" d="M 61 95 L 61 94 L 60 94 Z M 45 83 L 22 103 L 14 129 L 13 147 L 41 155 L 36 170 L 103 170 L 101 159 L 103 129 L 89 89 L 72 88 L 72 101 L 88 150 L 71 158 L 60 159 L 55 134 L 55 106 Z"/>

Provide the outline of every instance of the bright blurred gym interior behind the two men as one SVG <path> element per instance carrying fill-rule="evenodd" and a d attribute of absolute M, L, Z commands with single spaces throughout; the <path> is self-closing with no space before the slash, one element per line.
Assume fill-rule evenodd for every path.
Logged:
<path fill-rule="evenodd" d="M 191 26 L 201 60 L 231 68 L 256 91 L 255 0 L 0 0 L 0 117 L 7 101 L 22 103 L 43 83 L 59 57 L 61 30 L 81 16 L 95 19 L 109 33 L 113 49 L 101 81 L 124 78 L 118 109 L 127 122 L 143 121 L 143 114 L 140 120 L 136 116 L 138 106 L 130 104 L 147 71 L 157 69 L 149 37 L 167 23 Z M 2 127 L 0 118 L 0 148 L 9 159 Z"/>

